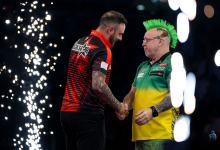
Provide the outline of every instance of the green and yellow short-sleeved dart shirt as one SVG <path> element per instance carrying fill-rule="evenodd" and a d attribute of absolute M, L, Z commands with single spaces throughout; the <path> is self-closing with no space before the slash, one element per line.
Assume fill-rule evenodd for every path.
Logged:
<path fill-rule="evenodd" d="M 134 122 L 135 114 L 141 109 L 150 108 L 160 103 L 170 93 L 171 54 L 164 54 L 158 61 L 151 65 L 151 60 L 141 63 L 137 69 L 132 86 L 136 87 L 133 119 L 132 141 L 173 139 L 173 127 L 179 110 L 171 108 L 159 113 L 145 125 Z"/>

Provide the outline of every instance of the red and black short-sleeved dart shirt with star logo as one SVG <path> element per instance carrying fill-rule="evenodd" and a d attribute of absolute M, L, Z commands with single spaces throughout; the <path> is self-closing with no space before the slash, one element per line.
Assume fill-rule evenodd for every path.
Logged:
<path fill-rule="evenodd" d="M 92 71 L 106 75 L 109 84 L 112 44 L 99 32 L 79 39 L 72 47 L 61 111 L 103 114 L 105 101 L 92 88 Z"/>

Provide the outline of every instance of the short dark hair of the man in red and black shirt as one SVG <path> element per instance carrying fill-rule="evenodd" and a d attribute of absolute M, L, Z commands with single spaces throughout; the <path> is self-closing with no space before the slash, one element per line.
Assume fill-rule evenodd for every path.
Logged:
<path fill-rule="evenodd" d="M 127 24 L 127 20 L 121 13 L 112 10 L 102 15 L 99 26 L 101 25 L 110 26 L 113 24 L 120 24 L 120 23 Z"/>

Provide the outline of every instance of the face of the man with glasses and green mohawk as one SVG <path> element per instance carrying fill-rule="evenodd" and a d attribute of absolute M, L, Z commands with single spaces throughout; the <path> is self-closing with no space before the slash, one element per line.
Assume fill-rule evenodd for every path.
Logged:
<path fill-rule="evenodd" d="M 158 51 L 158 44 L 160 39 L 156 39 L 158 36 L 156 29 L 148 30 L 144 35 L 144 41 L 142 46 L 144 47 L 145 55 L 149 58 L 155 58 Z"/>

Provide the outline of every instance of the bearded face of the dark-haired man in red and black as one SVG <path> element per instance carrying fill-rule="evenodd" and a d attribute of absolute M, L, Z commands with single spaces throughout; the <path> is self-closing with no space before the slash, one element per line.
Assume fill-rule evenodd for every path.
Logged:
<path fill-rule="evenodd" d="M 119 24 L 118 28 L 114 29 L 114 33 L 109 38 L 109 42 L 112 44 L 112 47 L 114 46 L 116 41 L 122 40 L 122 35 L 124 34 L 124 31 L 125 31 L 124 23 Z"/>

